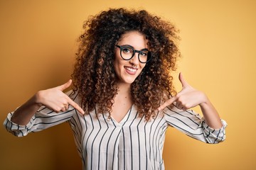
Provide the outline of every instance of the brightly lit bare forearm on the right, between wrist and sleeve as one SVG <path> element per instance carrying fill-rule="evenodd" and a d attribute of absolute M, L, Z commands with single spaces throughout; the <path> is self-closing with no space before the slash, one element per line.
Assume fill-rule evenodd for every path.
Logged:
<path fill-rule="evenodd" d="M 206 120 L 207 125 L 210 126 L 210 128 L 219 129 L 223 126 L 220 120 L 220 116 L 218 115 L 218 112 L 214 108 L 213 104 L 210 103 L 207 96 L 205 97 L 206 101 L 199 105 L 201 107 L 203 117 Z"/>

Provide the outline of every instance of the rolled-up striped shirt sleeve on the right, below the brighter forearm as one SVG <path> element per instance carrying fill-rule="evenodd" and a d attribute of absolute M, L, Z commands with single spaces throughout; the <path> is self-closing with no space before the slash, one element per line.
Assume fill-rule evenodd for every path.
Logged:
<path fill-rule="evenodd" d="M 215 144 L 225 140 L 225 128 L 227 123 L 221 120 L 223 127 L 220 129 L 210 128 L 201 115 L 191 110 L 182 111 L 176 106 L 169 106 L 164 109 L 164 118 L 171 126 L 185 133 L 186 135 L 202 142 Z"/>

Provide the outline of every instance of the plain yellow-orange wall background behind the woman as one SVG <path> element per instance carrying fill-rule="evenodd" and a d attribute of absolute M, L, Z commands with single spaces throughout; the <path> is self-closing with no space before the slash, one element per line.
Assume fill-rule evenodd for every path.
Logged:
<path fill-rule="evenodd" d="M 183 55 L 175 77 L 183 72 L 228 122 L 227 140 L 219 145 L 169 129 L 166 169 L 256 169 L 253 0 L 1 0 L 0 122 L 36 91 L 70 78 L 83 21 L 110 7 L 144 8 L 175 23 Z M 0 169 L 81 169 L 67 123 L 22 138 L 0 128 L 0 135 Z"/>

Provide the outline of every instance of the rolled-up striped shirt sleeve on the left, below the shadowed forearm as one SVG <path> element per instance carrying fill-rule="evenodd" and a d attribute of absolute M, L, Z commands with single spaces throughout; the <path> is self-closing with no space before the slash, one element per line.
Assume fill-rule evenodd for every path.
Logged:
<path fill-rule="evenodd" d="M 14 112 L 11 112 L 7 115 L 6 120 L 4 120 L 4 127 L 13 135 L 23 137 L 28 135 L 29 132 L 38 132 L 54 125 L 64 123 L 70 120 L 74 113 L 78 112 L 70 105 L 67 111 L 60 113 L 55 113 L 46 108 L 46 106 L 42 106 L 35 115 L 33 115 L 27 125 L 18 125 L 11 121 L 11 117 L 14 114 Z"/>

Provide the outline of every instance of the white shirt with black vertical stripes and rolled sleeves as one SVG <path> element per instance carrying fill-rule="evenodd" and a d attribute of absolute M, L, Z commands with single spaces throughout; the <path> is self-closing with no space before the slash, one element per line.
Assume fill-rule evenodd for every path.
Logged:
<path fill-rule="evenodd" d="M 80 103 L 78 97 L 74 98 L 76 103 Z M 139 117 L 136 106 L 132 106 L 119 123 L 113 118 L 108 119 L 108 113 L 97 118 L 97 108 L 88 115 L 80 115 L 72 106 L 62 113 L 42 106 L 28 125 L 12 123 L 12 114 L 7 115 L 4 126 L 18 137 L 68 122 L 83 169 L 100 170 L 164 169 L 162 152 L 167 128 L 176 128 L 196 140 L 218 143 L 225 140 L 227 125 L 222 120 L 223 127 L 214 130 L 200 115 L 178 110 L 175 106 L 165 108 L 149 121 Z"/>

